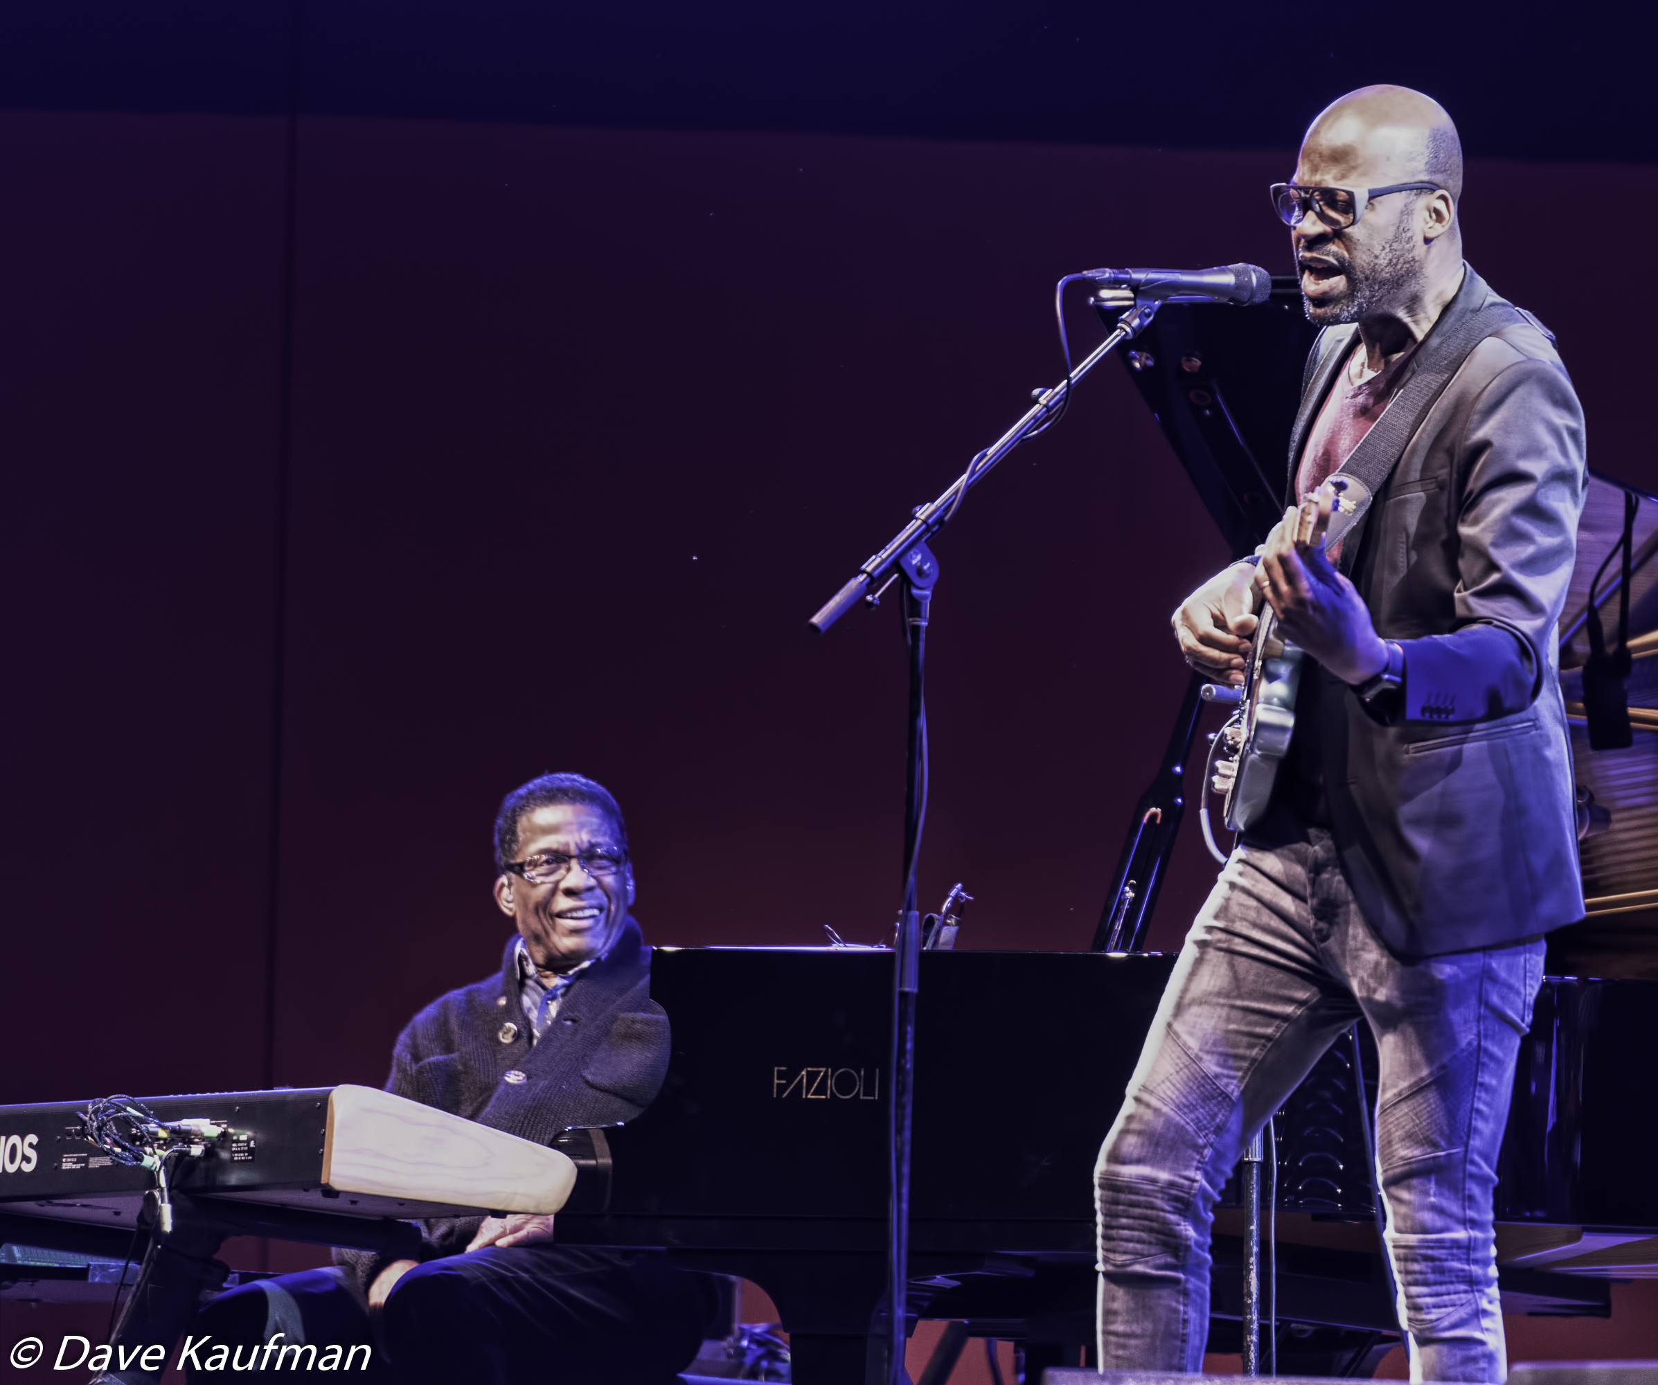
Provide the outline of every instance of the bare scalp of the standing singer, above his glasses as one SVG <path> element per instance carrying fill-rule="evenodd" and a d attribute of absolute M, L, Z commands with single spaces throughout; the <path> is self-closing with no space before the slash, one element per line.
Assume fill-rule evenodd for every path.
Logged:
<path fill-rule="evenodd" d="M 1437 182 L 1462 196 L 1462 141 L 1446 108 L 1409 86 L 1361 86 L 1331 101 L 1302 141 L 1302 166 L 1338 187 Z M 1297 182 L 1303 179 L 1297 176 Z"/>

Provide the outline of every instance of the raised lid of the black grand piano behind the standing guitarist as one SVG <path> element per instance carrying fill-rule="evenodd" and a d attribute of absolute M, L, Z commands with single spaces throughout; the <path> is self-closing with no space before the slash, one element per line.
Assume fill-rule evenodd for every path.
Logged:
<path fill-rule="evenodd" d="M 1101 310 L 1114 325 L 1116 313 Z M 1258 307 L 1167 304 L 1122 360 L 1199 498 L 1235 556 L 1252 552 L 1283 514 L 1290 430 L 1316 328 L 1297 280 L 1275 275 Z M 1623 498 L 1636 496 L 1626 682 L 1635 745 L 1588 748 L 1582 718 L 1588 584 L 1623 537 Z M 1550 939 L 1549 970 L 1658 979 L 1658 498 L 1590 474 L 1577 566 L 1560 620 L 1560 688 L 1572 718 L 1580 790 L 1608 824 L 1578 843 L 1588 917 Z M 1617 559 L 1600 582 L 1602 624 L 1617 640 Z"/>

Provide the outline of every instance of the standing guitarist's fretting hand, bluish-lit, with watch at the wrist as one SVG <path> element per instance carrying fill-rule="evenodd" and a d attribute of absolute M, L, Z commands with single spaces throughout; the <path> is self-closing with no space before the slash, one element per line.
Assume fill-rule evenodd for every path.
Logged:
<path fill-rule="evenodd" d="M 1358 587 L 1336 572 L 1323 542 L 1295 541 L 1297 519 L 1298 513 L 1288 511 L 1267 537 L 1255 586 L 1278 617 L 1283 639 L 1341 682 L 1363 683 L 1388 667 L 1388 647 Z"/>

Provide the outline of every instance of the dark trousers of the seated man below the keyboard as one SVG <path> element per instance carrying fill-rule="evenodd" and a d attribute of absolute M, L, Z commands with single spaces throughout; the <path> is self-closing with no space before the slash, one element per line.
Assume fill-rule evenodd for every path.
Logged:
<path fill-rule="evenodd" d="M 191 1335 L 211 1340 L 186 1372 L 192 1382 L 242 1380 L 259 1347 L 254 1373 L 280 1367 L 287 1378 L 302 1365 L 284 1358 L 288 1345 L 317 1347 L 303 1365 L 332 1345 L 342 1357 L 368 1345 L 366 1375 L 400 1385 L 663 1385 L 690 1365 L 716 1310 L 706 1276 L 658 1256 L 617 1262 L 574 1247 L 491 1246 L 411 1269 L 378 1322 L 340 1269 L 232 1289 L 197 1314 Z M 221 1345 L 230 1350 L 216 1357 Z M 353 1375 L 365 1373 L 363 1360 L 356 1352 Z"/>

